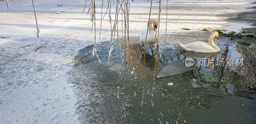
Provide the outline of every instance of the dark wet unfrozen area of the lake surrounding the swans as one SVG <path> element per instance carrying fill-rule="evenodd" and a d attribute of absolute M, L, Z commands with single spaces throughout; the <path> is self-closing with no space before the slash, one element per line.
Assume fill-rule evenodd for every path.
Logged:
<path fill-rule="evenodd" d="M 132 56 L 135 60 L 134 63 L 137 63 L 140 59 L 141 45 L 138 42 L 136 43 L 137 38 L 131 39 L 130 50 L 134 53 L 134 56 Z M 250 56 L 248 52 L 253 49 L 237 44 L 236 42 L 241 41 L 241 38 L 230 40 L 220 36 L 220 40 L 216 38 L 214 40 L 217 41 L 216 45 L 220 47 L 221 51 L 213 55 L 213 60 L 222 57 L 227 59 Z M 252 38 L 247 39 L 247 41 L 252 41 Z M 246 82 L 246 80 L 243 80 L 245 76 L 241 72 L 250 70 L 248 69 L 250 67 L 247 67 L 245 63 L 251 60 L 244 60 L 243 68 L 240 69 L 239 65 L 239 67 L 236 67 L 239 70 L 235 70 L 234 66 L 211 66 L 211 69 L 203 65 L 200 67 L 194 66 L 192 70 L 171 77 L 156 78 L 154 97 L 152 97 L 155 57 L 151 55 L 151 52 L 148 52 L 145 56 L 145 95 L 141 106 L 143 61 L 140 62 L 138 69 L 133 72 L 134 76 L 120 91 L 119 98 L 117 98 L 118 86 L 120 89 L 124 86 L 123 84 L 130 77 L 134 65 L 132 62 L 129 63 L 128 75 L 125 77 L 125 81 L 120 80 L 118 84 L 118 66 L 121 67 L 122 62 L 119 63 L 118 50 L 114 50 L 111 61 L 108 63 L 108 45 L 108 42 L 104 42 L 97 46 L 101 63 L 96 57 L 92 57 L 90 51 L 93 46 L 81 49 L 75 58 L 76 64 L 71 77 L 78 94 L 79 107 L 77 112 L 79 120 L 82 122 L 159 123 L 152 109 L 150 99 L 154 103 L 156 113 L 161 112 L 168 123 L 174 122 L 176 119 L 175 112 L 178 113 L 178 109 L 182 110 L 182 116 L 188 114 L 189 109 L 186 103 L 191 106 L 191 114 L 184 119 L 186 123 L 254 123 L 256 121 L 255 93 L 236 90 L 233 92 L 235 95 L 229 95 L 225 88 L 225 85 L 231 80 Z M 247 52 L 241 50 L 248 48 Z M 184 61 L 188 55 L 178 57 L 181 51 L 180 48 L 175 49 L 175 45 L 172 49 L 164 50 L 162 57 L 156 63 L 156 75 L 166 66 L 176 68 L 176 63 L 185 66 Z M 248 73 L 254 72 L 255 68 Z M 88 76 L 88 73 L 91 73 L 91 75 Z M 220 82 L 220 84 L 212 83 L 214 81 Z M 173 83 L 173 85 L 170 86 L 168 83 Z M 88 87 L 93 89 L 88 89 Z M 91 102 L 89 104 L 84 103 L 88 98 L 91 99 Z M 161 121 L 164 122 L 163 119 Z M 179 123 L 185 123 L 185 121 L 180 120 Z"/>

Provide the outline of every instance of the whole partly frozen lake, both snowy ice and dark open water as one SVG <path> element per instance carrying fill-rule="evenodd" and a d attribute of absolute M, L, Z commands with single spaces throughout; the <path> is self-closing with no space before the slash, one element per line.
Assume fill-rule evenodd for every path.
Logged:
<path fill-rule="evenodd" d="M 255 30 L 254 1 L 173 0 L 168 1 L 167 8 L 167 1 L 162 1 L 157 27 L 161 50 L 165 33 L 166 43 L 156 63 L 151 46 L 146 47 L 141 106 L 144 59 L 129 81 L 128 78 L 140 60 L 139 37 L 147 27 L 150 2 L 129 3 L 132 59 L 124 59 L 120 69 L 122 58 L 116 38 L 108 62 L 116 1 L 111 1 L 110 12 L 108 1 L 104 0 L 102 10 L 107 14 L 103 19 L 102 1 L 95 1 L 94 32 L 90 12 L 86 14 L 90 1 L 82 14 L 84 1 L 34 0 L 40 28 L 37 40 L 31 0 L 12 0 L 9 9 L 6 1 L 0 0 L 0 123 L 159 123 L 156 114 L 165 123 L 160 112 L 168 123 L 174 123 L 175 112 L 178 114 L 179 109 L 184 117 L 189 112 L 188 106 L 191 113 L 178 123 L 255 123 L 255 93 L 233 89 L 255 91 L 255 37 L 214 38 L 221 49 L 214 54 L 191 53 L 178 46 L 178 42 L 208 41 L 217 29 L 225 33 L 242 28 Z M 158 2 L 152 2 L 150 18 L 158 18 Z M 121 13 L 117 23 L 120 37 L 124 36 Z M 209 32 L 202 31 L 204 28 Z M 101 63 L 92 56 L 95 39 Z M 251 46 L 240 45 L 238 41 L 249 42 Z M 35 51 L 37 47 L 42 48 Z M 205 62 L 197 66 L 199 57 L 211 59 L 215 64 L 207 66 Z M 220 66 L 222 58 L 224 66 Z M 228 62 L 230 58 L 234 65 L 237 58 L 244 58 L 243 66 L 232 65 Z M 185 62 L 193 61 L 194 66 L 185 66 Z"/>

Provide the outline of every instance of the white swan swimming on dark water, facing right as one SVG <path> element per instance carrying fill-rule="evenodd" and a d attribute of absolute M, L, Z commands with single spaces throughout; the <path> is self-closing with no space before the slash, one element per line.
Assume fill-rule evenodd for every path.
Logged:
<path fill-rule="evenodd" d="M 203 41 L 196 41 L 192 43 L 188 43 L 186 45 L 179 43 L 180 47 L 183 48 L 186 51 L 193 51 L 198 53 L 214 53 L 219 52 L 220 48 L 215 45 L 213 42 L 213 38 L 216 37 L 219 39 L 219 33 L 213 32 L 212 35 L 209 38 L 209 43 L 203 42 Z"/>

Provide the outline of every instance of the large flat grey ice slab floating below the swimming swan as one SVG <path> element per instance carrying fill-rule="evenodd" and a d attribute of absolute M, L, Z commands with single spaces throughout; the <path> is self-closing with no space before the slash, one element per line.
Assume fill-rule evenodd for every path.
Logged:
<path fill-rule="evenodd" d="M 170 77 L 173 75 L 181 74 L 186 71 L 193 70 L 191 67 L 186 67 L 185 64 L 172 62 L 170 65 L 165 66 L 157 75 L 157 78 Z"/>

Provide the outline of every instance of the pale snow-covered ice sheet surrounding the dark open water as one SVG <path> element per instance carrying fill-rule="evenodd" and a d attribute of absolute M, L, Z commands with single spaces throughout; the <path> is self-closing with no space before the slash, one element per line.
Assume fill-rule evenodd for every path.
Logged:
<path fill-rule="evenodd" d="M 96 32 L 99 32 L 101 1 L 95 2 Z M 228 13 L 246 11 L 247 7 L 251 5 L 250 2 L 245 0 L 239 4 L 232 4 L 232 1 L 230 3 L 228 1 L 225 6 L 232 5 L 232 7 L 225 9 L 225 11 Z M 129 17 L 129 36 L 139 36 L 141 29 L 146 28 L 145 22 L 148 18 L 150 3 L 141 3 L 142 1 L 130 3 L 132 7 L 130 12 L 133 14 Z M 0 35 L 6 37 L 0 39 L 0 123 L 79 123 L 76 116 L 76 102 L 79 99 L 76 96 L 79 92 L 74 94 L 68 73 L 73 69 L 73 58 L 78 51 L 94 44 L 95 37 L 91 33 L 92 6 L 89 7 L 90 4 L 86 4 L 86 8 L 90 8 L 90 15 L 86 16 L 81 15 L 80 9 L 83 9 L 83 5 L 73 3 L 71 0 L 38 0 L 34 1 L 34 4 L 41 31 L 39 42 L 35 37 L 36 23 L 31 0 L 12 1 L 9 10 L 5 1 L 0 1 Z M 63 4 L 63 6 L 57 7 L 57 4 Z M 74 8 L 80 9 L 70 9 L 71 4 Z M 164 4 L 161 6 L 165 6 Z M 184 6 L 183 2 L 173 4 L 175 6 L 168 6 L 168 12 L 171 15 L 168 15 L 167 25 L 167 38 L 171 36 L 169 37 L 171 40 L 168 42 L 172 44 L 177 42 L 172 40 L 172 36 L 179 37 L 182 33 L 189 35 L 189 33 L 194 32 L 182 30 L 182 27 L 220 29 L 226 28 L 223 25 L 228 26 L 230 24 L 225 20 L 228 17 L 215 16 L 216 14 L 223 14 L 224 7 L 222 5 L 212 6 L 212 2 L 197 3 L 203 4 L 203 6 Z M 158 4 L 154 6 L 156 5 Z M 104 3 L 103 8 L 106 9 L 107 6 L 108 4 Z M 209 8 L 209 6 L 211 7 Z M 193 14 L 191 11 L 186 11 L 186 7 L 192 9 Z M 198 8 L 201 11 L 197 11 Z M 57 11 L 65 12 L 56 14 Z M 152 13 L 152 18 L 157 18 L 158 7 L 152 8 Z M 102 19 L 101 38 L 96 40 L 96 43 L 110 39 L 109 20 L 111 16 L 115 16 L 115 11 L 111 10 L 111 15 Z M 121 21 L 119 21 L 120 23 Z M 179 25 L 175 25 L 177 23 Z M 234 27 L 250 26 L 250 24 L 241 26 L 241 24 L 236 23 L 232 23 L 232 25 L 235 25 Z M 165 34 L 165 28 L 163 25 L 159 26 L 159 34 Z M 34 52 L 36 47 L 42 47 L 45 42 L 48 43 L 47 47 Z M 168 42 L 166 42 L 165 48 L 168 46 L 171 48 L 172 44 Z M 188 42 L 190 41 L 182 41 L 181 43 L 186 44 Z M 173 51 L 177 52 L 176 50 Z M 92 49 L 88 51 L 88 54 L 91 55 L 91 52 Z M 163 55 L 166 54 L 169 53 L 163 51 Z M 99 57 L 101 56 L 99 55 Z M 158 75 L 161 76 L 160 74 Z M 162 74 L 170 75 L 167 72 Z M 80 75 L 80 79 L 81 77 L 87 78 L 91 73 L 81 72 L 76 75 Z M 90 93 L 94 93 L 92 87 L 86 87 L 86 89 L 92 90 Z M 84 92 L 85 96 L 88 95 L 86 93 Z M 99 101 L 97 98 L 91 99 Z M 88 97 L 81 101 L 86 104 L 91 99 Z M 88 107 L 88 110 L 92 111 L 94 108 Z M 90 119 L 88 120 L 90 121 Z"/>

